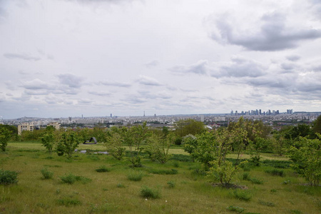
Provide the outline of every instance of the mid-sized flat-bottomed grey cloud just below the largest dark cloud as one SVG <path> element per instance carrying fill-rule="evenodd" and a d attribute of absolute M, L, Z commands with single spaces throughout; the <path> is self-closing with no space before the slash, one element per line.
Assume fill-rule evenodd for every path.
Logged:
<path fill-rule="evenodd" d="M 258 77 L 265 75 L 265 66 L 258 61 L 234 56 L 231 61 L 220 65 L 218 68 L 213 68 L 211 76 L 220 77 Z"/>

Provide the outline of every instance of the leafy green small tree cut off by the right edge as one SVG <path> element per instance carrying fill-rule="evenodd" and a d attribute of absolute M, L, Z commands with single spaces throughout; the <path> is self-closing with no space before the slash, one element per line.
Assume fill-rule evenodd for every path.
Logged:
<path fill-rule="evenodd" d="M 321 178 L 321 135 L 317 139 L 300 138 L 302 146 L 290 148 L 292 168 L 302 175 L 310 185 L 319 185 Z"/>

